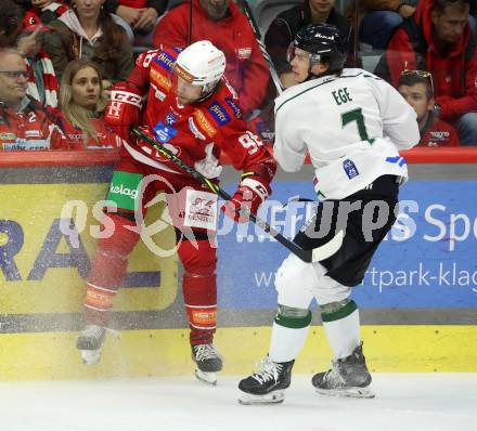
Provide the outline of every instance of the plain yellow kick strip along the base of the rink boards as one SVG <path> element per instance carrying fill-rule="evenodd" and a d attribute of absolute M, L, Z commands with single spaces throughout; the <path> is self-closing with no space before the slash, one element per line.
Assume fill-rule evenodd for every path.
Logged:
<path fill-rule="evenodd" d="M 194 369 L 186 329 L 108 334 L 102 361 L 94 366 L 81 363 L 76 337 L 77 332 L 0 335 L 0 380 L 181 376 Z M 362 339 L 373 373 L 477 373 L 476 326 L 363 326 Z M 269 327 L 220 328 L 216 344 L 225 358 L 223 374 L 249 374 L 267 353 L 269 340 Z M 323 328 L 312 327 L 295 371 L 327 369 L 331 356 Z"/>

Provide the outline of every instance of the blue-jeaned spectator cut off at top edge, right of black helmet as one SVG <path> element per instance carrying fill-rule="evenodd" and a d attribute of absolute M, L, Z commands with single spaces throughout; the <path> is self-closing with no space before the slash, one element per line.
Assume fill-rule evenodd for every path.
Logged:
<path fill-rule="evenodd" d="M 354 0 L 346 17 L 359 28 L 359 40 L 384 51 L 392 30 L 415 12 L 418 0 Z"/>

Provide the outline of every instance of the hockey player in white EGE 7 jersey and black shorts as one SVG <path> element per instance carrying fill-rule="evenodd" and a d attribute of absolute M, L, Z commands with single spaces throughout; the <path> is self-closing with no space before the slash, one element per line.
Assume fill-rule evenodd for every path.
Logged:
<path fill-rule="evenodd" d="M 323 254 L 318 263 L 291 254 L 276 272 L 269 354 L 261 370 L 240 382 L 242 404 L 284 400 L 313 298 L 334 354 L 313 387 L 323 394 L 374 396 L 349 296 L 396 221 L 398 188 L 408 178 L 398 151 L 416 145 L 420 132 L 414 110 L 391 86 L 365 70 L 344 69 L 345 60 L 337 29 L 326 24 L 301 28 L 288 50 L 297 86 L 275 100 L 274 157 L 296 172 L 309 153 L 322 203 L 295 241 Z"/>

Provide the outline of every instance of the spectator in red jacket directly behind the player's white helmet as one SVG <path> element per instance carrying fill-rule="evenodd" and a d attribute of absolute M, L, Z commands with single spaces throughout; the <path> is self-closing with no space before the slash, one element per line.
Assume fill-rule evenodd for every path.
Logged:
<path fill-rule="evenodd" d="M 189 35 L 189 2 L 180 4 L 158 22 L 154 47 L 184 48 L 198 40 L 210 40 L 225 54 L 225 77 L 238 93 L 248 118 L 265 102 L 270 71 L 247 17 L 231 0 L 193 0 Z"/>

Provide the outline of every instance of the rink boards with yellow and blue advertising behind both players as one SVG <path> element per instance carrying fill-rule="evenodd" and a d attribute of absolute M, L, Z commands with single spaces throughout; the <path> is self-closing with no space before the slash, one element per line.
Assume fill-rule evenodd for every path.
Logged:
<path fill-rule="evenodd" d="M 417 168 L 415 168 L 417 169 Z M 477 200 L 474 166 L 443 177 L 416 170 L 401 193 L 400 220 L 354 288 L 362 338 L 375 371 L 477 371 Z M 467 174 L 465 174 L 467 172 Z M 111 168 L 10 169 L 0 173 L 0 379 L 63 379 L 190 374 L 186 318 L 173 230 L 156 224 L 164 252 L 134 249 L 115 301 L 103 361 L 80 363 L 85 277 L 99 233 Z M 225 172 L 232 192 L 236 175 Z M 279 174 L 262 216 L 293 236 L 307 213 L 291 196 L 313 198 L 310 172 Z M 85 205 L 80 204 L 83 203 Z M 100 203 L 100 204 L 98 204 Z M 165 220 L 164 203 L 146 224 Z M 72 222 L 73 220 L 73 222 Z M 76 235 L 77 232 L 79 235 Z M 162 254 L 157 257 L 157 254 Z M 254 225 L 219 222 L 219 329 L 225 374 L 266 354 L 276 297 L 273 275 L 286 250 Z M 240 340 L 240 343 L 237 343 Z M 313 326 L 296 369 L 325 367 L 331 352 L 313 305 Z"/>

